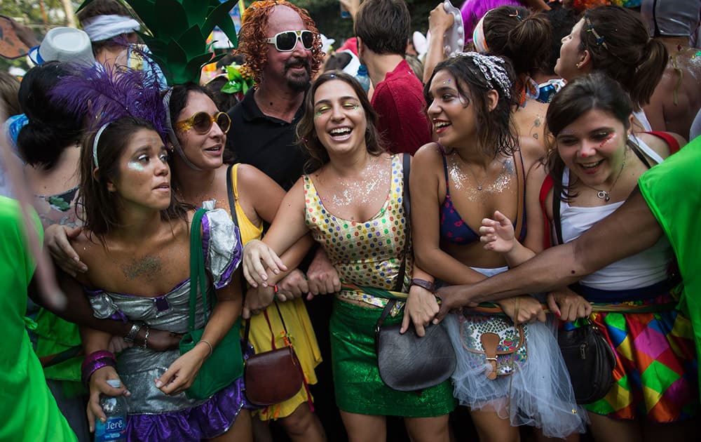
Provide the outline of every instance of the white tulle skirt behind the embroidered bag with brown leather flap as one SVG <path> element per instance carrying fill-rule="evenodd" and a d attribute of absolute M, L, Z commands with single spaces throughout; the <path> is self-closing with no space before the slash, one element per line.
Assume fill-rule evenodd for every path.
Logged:
<path fill-rule="evenodd" d="M 475 269 L 491 276 L 503 269 Z M 548 315 L 550 316 L 550 315 Z M 512 426 L 529 425 L 543 429 L 549 437 L 564 438 L 586 431 L 587 414 L 580 408 L 572 391 L 569 373 L 557 345 L 557 330 L 551 317 L 546 323 L 528 324 L 526 330 L 527 358 L 515 365 L 512 375 L 486 377 L 488 368 L 475 363 L 475 354 L 465 348 L 465 333 L 470 318 L 449 314 L 448 334 L 458 356 L 453 374 L 454 396 L 461 405 L 472 410 L 495 410 Z"/>

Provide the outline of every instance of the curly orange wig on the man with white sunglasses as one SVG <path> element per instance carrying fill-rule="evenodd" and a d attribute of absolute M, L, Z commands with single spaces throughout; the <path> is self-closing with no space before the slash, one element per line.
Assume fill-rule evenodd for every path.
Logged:
<path fill-rule="evenodd" d="M 253 73 L 253 81 L 261 82 L 263 67 L 268 62 L 268 16 L 275 6 L 287 6 L 297 11 L 306 29 L 314 33 L 314 43 L 311 48 L 311 70 L 318 72 L 324 53 L 321 50 L 321 36 L 306 9 L 291 4 L 285 0 L 254 1 L 243 13 L 241 29 L 238 33 L 237 54 L 243 55 L 245 66 Z"/>

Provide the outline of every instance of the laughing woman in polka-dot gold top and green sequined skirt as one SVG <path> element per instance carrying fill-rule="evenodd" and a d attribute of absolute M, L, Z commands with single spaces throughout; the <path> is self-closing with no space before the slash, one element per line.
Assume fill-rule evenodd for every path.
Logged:
<path fill-rule="evenodd" d="M 383 149 L 376 113 L 348 74 L 321 74 L 307 93 L 304 111 L 297 137 L 311 155 L 308 170 L 313 173 L 287 192 L 262 242 L 246 247 L 247 279 L 264 285 L 260 258 L 271 269 L 280 268 L 277 254 L 311 232 L 344 285 L 335 293 L 330 330 L 336 403 L 349 438 L 381 438 L 385 417 L 395 415 L 404 417 L 411 440 L 447 442 L 447 413 L 455 407 L 450 384 L 396 391 L 384 384 L 377 366 L 374 330 L 390 298 L 400 299 L 400 307 L 386 323 L 401 322 L 404 330 L 413 323 L 421 336 L 438 307 L 425 288 L 433 277 L 413 264 L 402 206 L 408 173 L 402 156 Z M 412 277 L 424 284 L 412 285 Z"/>

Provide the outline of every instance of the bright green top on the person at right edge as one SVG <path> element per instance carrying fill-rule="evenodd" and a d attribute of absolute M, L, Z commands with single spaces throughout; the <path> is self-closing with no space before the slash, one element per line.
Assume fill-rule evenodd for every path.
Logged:
<path fill-rule="evenodd" d="M 672 243 L 684 282 L 679 309 L 701 354 L 701 137 L 644 173 L 640 192 Z M 699 372 L 701 380 L 701 371 Z"/>

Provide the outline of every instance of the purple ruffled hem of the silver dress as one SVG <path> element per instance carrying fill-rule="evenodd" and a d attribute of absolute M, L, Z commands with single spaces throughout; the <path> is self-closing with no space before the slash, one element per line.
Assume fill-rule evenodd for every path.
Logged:
<path fill-rule="evenodd" d="M 127 416 L 127 441 L 200 441 L 226 433 L 245 406 L 243 377 L 205 403 L 168 413 Z"/>

